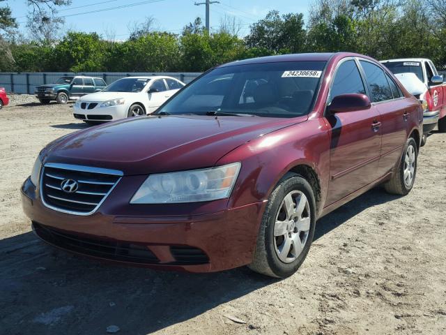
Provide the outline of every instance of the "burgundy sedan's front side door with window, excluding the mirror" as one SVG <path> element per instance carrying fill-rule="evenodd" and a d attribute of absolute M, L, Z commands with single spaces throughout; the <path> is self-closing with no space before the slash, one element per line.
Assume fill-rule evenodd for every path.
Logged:
<path fill-rule="evenodd" d="M 367 94 L 367 84 L 357 60 L 343 59 L 335 70 L 328 104 L 341 94 Z M 380 114 L 367 110 L 327 115 L 330 124 L 330 181 L 327 205 L 378 179 L 381 149 Z"/>

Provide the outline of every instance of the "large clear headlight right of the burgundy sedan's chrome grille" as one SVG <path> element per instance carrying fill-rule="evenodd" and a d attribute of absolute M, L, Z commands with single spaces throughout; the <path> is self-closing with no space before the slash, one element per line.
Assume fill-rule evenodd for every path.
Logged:
<path fill-rule="evenodd" d="M 228 198 L 240 166 L 240 163 L 233 163 L 203 170 L 151 174 L 130 203 L 162 204 Z"/>

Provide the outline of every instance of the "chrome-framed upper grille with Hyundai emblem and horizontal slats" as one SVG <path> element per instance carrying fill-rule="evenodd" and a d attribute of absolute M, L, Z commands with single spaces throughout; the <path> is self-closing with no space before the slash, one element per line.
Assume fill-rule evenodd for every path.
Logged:
<path fill-rule="evenodd" d="M 40 177 L 45 206 L 70 214 L 93 214 L 112 191 L 122 172 L 80 165 L 47 163 Z M 77 187 L 63 191 L 63 181 Z M 68 193 L 67 191 L 72 191 Z"/>

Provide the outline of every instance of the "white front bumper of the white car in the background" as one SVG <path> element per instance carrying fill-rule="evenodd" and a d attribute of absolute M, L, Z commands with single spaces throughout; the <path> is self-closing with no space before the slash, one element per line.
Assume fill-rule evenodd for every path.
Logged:
<path fill-rule="evenodd" d="M 75 105 L 73 107 L 73 114 L 75 119 L 90 120 L 90 121 L 114 121 L 127 117 L 128 108 L 125 105 L 118 105 L 112 107 L 98 107 L 101 103 L 97 103 L 91 110 L 90 103 L 84 105 Z"/>

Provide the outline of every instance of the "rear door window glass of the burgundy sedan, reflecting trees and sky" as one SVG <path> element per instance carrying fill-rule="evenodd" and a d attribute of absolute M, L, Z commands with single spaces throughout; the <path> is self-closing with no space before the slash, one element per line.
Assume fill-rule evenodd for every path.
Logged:
<path fill-rule="evenodd" d="M 364 68 L 367 84 L 369 84 L 370 98 L 373 103 L 391 100 L 393 98 L 389 82 L 383 69 L 369 61 L 360 61 Z"/>

